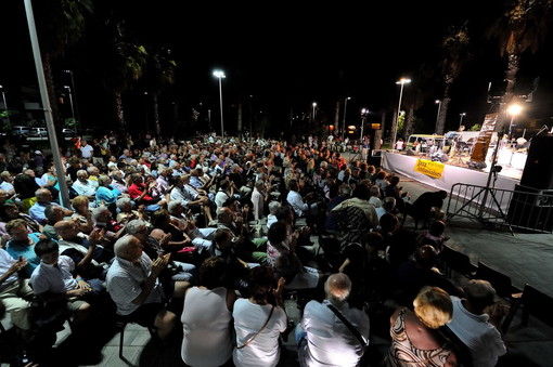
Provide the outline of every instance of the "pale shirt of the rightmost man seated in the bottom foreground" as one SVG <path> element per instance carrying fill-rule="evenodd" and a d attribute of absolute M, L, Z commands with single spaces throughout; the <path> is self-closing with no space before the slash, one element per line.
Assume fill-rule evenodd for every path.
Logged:
<path fill-rule="evenodd" d="M 466 311 L 461 299 L 450 296 L 453 302 L 453 318 L 448 327 L 471 350 L 474 367 L 493 367 L 498 358 L 506 353 L 501 333 L 489 323 L 489 316 L 475 315 Z"/>

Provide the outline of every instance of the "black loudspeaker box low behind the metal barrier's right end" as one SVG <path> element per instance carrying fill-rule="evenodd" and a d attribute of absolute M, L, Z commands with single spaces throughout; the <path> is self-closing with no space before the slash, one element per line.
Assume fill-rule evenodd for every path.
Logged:
<path fill-rule="evenodd" d="M 553 189 L 515 185 L 509 205 L 507 220 L 514 227 L 552 232 Z"/>

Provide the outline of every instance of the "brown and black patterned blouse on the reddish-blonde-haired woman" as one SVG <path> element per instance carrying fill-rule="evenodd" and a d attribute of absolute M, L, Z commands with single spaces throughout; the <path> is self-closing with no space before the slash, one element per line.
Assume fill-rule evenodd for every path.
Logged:
<path fill-rule="evenodd" d="M 400 311 L 396 323 L 390 329 L 391 346 L 386 357 L 388 367 L 439 367 L 446 365 L 451 352 L 447 345 L 435 350 L 420 350 L 411 344 L 406 331 L 406 310 Z"/>

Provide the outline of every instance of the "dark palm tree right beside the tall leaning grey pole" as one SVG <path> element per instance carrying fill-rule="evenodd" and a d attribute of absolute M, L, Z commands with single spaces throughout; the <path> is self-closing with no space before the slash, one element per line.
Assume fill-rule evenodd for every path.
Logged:
<path fill-rule="evenodd" d="M 87 18 L 93 14 L 91 0 L 43 0 L 35 2 L 37 29 L 44 78 L 55 126 L 61 130 L 62 118 L 57 107 L 57 91 L 52 62 L 64 56 L 68 47 L 85 35 Z"/>

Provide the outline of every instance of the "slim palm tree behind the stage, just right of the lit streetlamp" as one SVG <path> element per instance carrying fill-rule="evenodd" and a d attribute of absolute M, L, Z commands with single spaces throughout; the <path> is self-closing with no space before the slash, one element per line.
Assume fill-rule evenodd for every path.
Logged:
<path fill-rule="evenodd" d="M 468 37 L 466 24 L 461 27 L 450 27 L 441 42 L 443 60 L 441 61 L 441 74 L 443 78 L 443 96 L 441 97 L 440 114 L 436 123 L 436 133 L 443 134 L 446 117 L 448 115 L 448 105 L 451 101 L 449 90 L 455 78 L 461 73 L 463 64 L 470 58 Z"/>

